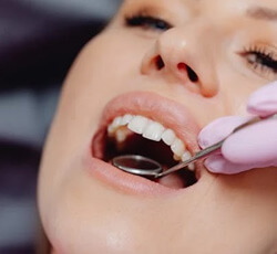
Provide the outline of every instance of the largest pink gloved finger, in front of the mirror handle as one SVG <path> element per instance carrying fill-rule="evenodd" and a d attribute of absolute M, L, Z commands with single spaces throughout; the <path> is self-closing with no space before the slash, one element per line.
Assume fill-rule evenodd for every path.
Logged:
<path fill-rule="evenodd" d="M 228 137 L 222 155 L 230 162 L 259 167 L 277 162 L 277 119 L 265 119 Z"/>

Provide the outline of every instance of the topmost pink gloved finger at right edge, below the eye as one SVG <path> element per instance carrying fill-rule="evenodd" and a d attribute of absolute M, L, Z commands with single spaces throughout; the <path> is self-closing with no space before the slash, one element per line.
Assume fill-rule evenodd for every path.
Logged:
<path fill-rule="evenodd" d="M 277 81 L 252 94 L 248 99 L 247 110 L 259 116 L 277 113 Z"/>

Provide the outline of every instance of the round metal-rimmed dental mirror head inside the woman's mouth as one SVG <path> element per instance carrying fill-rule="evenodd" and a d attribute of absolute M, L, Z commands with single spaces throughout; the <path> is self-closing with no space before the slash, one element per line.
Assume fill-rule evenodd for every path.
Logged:
<path fill-rule="evenodd" d="M 112 159 L 112 163 L 125 172 L 142 177 L 156 177 L 163 171 L 157 161 L 138 155 L 117 156 Z"/>

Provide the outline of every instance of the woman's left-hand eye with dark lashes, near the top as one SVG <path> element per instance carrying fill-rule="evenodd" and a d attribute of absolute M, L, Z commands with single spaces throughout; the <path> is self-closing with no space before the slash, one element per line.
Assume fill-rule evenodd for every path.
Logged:
<path fill-rule="evenodd" d="M 152 31 L 166 31 L 171 29 L 173 25 L 168 22 L 145 13 L 138 13 L 131 17 L 125 17 L 126 27 L 137 27 L 143 28 L 145 30 Z"/>

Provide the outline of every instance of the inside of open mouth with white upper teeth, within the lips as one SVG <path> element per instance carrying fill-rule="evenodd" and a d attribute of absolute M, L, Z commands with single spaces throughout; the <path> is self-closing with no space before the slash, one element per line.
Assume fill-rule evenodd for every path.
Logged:
<path fill-rule="evenodd" d="M 102 151 L 98 155 L 99 159 L 109 163 L 117 156 L 140 155 L 160 162 L 163 170 L 192 157 L 173 129 L 147 117 L 131 114 L 117 116 L 107 125 L 103 134 Z M 194 163 L 164 178 L 148 179 L 173 189 L 197 182 Z"/>

